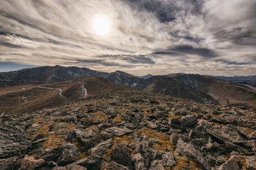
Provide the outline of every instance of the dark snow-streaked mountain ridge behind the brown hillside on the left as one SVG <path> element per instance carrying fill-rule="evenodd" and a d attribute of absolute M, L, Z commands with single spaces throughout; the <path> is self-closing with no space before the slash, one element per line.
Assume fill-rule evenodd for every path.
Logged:
<path fill-rule="evenodd" d="M 55 83 L 84 78 L 86 76 L 102 76 L 106 78 L 108 73 L 94 71 L 86 67 L 34 67 L 0 73 L 0 87 L 26 83 Z"/>

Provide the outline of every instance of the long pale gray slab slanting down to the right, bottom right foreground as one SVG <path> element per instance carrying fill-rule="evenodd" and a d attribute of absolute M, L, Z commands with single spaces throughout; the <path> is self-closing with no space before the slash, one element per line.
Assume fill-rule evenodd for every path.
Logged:
<path fill-rule="evenodd" d="M 190 143 L 185 143 L 181 138 L 179 138 L 176 147 L 175 152 L 194 160 L 203 169 L 211 169 L 208 160 Z"/>

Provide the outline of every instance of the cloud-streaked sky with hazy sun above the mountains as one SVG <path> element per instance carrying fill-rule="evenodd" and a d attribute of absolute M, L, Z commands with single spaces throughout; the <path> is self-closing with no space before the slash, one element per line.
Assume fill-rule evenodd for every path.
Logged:
<path fill-rule="evenodd" d="M 1 0 L 0 71 L 255 75 L 255 9 L 255 0 Z"/>

